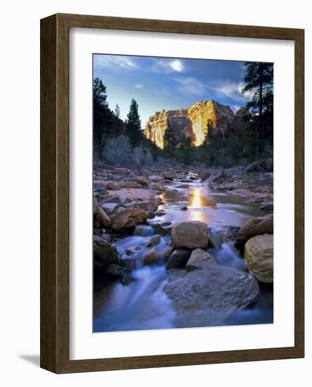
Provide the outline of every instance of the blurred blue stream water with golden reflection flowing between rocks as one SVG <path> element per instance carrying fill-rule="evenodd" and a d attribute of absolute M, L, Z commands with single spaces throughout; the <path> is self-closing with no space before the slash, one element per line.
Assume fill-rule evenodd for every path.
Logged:
<path fill-rule="evenodd" d="M 135 235 L 114 243 L 120 255 L 128 248 L 136 260 L 136 269 L 131 273 L 135 281 L 124 286 L 115 282 L 94 294 L 94 332 L 134 331 L 138 329 L 167 329 L 181 327 L 173 305 L 163 292 L 168 272 L 165 262 L 158 265 L 143 265 L 143 258 L 150 248 L 146 242 L 156 234 L 153 224 L 199 220 L 208 224 L 210 236 L 216 248 L 208 252 L 216 258 L 218 265 L 247 270 L 244 259 L 234 248 L 234 242 L 224 237 L 228 226 L 241 227 L 250 217 L 263 216 L 256 203 L 247 203 L 243 198 L 229 194 L 216 194 L 198 180 L 182 185 L 173 182 L 170 190 L 161 195 L 165 215 L 149 220 L 150 225 L 137 227 Z M 187 205 L 187 210 L 181 210 Z M 170 244 L 170 236 L 162 236 L 159 246 Z M 230 316 L 211 325 L 268 324 L 273 322 L 273 287 L 261 285 L 261 297 L 250 309 L 237 310 Z M 184 326 L 201 326 L 196 319 L 189 319 Z"/>

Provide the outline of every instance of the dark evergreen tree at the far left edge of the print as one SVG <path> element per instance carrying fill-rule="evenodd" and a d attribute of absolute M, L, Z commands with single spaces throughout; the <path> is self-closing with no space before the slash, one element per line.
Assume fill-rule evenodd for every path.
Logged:
<path fill-rule="evenodd" d="M 93 80 L 93 145 L 94 155 L 101 154 L 104 137 L 111 134 L 113 114 L 106 101 L 106 86 L 99 78 Z"/>

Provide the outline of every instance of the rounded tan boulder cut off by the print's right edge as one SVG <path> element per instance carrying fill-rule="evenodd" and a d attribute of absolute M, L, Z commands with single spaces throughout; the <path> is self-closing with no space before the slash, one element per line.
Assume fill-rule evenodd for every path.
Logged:
<path fill-rule="evenodd" d="M 260 282 L 273 283 L 273 235 L 257 235 L 245 245 L 248 270 Z"/>

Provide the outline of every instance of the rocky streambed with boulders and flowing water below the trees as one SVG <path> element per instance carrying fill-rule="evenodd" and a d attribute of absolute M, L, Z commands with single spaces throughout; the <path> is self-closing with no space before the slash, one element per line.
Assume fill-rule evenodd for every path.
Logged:
<path fill-rule="evenodd" d="M 271 175 L 96 170 L 94 331 L 272 323 Z"/>

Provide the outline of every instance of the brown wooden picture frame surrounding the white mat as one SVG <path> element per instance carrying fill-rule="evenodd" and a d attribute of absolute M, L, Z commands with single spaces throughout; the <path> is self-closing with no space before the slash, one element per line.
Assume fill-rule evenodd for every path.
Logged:
<path fill-rule="evenodd" d="M 295 46 L 294 346 L 69 360 L 70 27 L 285 39 Z M 41 367 L 56 373 L 304 357 L 304 30 L 56 14 L 41 20 Z"/>

